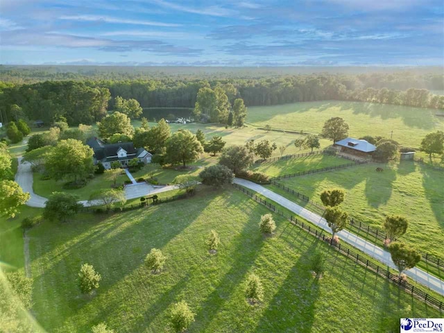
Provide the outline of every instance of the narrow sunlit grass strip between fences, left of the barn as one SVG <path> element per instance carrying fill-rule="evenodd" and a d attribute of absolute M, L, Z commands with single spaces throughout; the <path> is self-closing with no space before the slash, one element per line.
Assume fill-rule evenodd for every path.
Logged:
<path fill-rule="evenodd" d="M 323 169 L 325 167 L 336 167 L 352 163 L 345 158 L 329 156 L 324 154 L 309 155 L 293 158 L 290 160 L 279 160 L 253 165 L 253 171 L 261 171 L 268 176 L 277 177 L 300 171 Z"/>

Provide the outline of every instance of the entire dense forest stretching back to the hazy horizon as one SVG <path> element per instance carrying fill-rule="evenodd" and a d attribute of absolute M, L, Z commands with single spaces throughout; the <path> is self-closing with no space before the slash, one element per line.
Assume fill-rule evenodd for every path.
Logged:
<path fill-rule="evenodd" d="M 243 99 L 247 106 L 337 100 L 444 109 L 444 96 L 429 92 L 444 90 L 438 70 L 290 75 L 271 69 L 232 69 L 236 75 L 223 78 L 228 71 L 205 69 L 202 74 L 195 69 L 191 75 L 182 70 L 176 76 L 168 71 L 162 76 L 157 73 L 161 69 L 142 69 L 139 74 L 134 68 L 83 69 L 62 72 L 58 67 L 45 71 L 0 66 L 0 121 L 25 117 L 49 122 L 62 116 L 73 126 L 94 123 L 114 108 L 117 96 L 136 99 L 143 108 L 194 108 L 203 87 L 221 87 L 231 105 L 235 99 Z M 268 75 L 261 76 L 262 72 Z M 22 83 L 10 80 L 13 76 Z"/>

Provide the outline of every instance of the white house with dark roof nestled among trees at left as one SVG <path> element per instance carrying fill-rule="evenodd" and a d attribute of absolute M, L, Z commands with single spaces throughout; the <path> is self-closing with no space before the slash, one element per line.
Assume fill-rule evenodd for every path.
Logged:
<path fill-rule="evenodd" d="M 101 139 L 92 137 L 86 144 L 94 151 L 94 164 L 102 162 L 105 169 L 111 169 L 111 163 L 115 161 L 119 161 L 122 167 L 126 167 L 133 158 L 145 164 L 151 163 L 151 157 L 153 157 L 144 148 L 134 148 L 133 142 L 105 144 Z"/>

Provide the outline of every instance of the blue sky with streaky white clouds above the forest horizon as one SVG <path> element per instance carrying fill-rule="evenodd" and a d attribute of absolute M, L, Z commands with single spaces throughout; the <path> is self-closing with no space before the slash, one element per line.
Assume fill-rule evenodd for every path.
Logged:
<path fill-rule="evenodd" d="M 2 65 L 444 65 L 443 0 L 0 0 Z"/>

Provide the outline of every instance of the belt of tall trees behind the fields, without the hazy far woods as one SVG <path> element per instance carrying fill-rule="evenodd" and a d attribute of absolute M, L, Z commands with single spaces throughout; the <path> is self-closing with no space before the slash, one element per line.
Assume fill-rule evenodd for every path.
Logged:
<path fill-rule="evenodd" d="M 420 86 L 443 89 L 442 82 L 439 83 L 442 76 L 428 77 L 427 82 L 432 83 Z M 410 89 L 392 89 L 394 82 L 401 79 L 401 75 L 393 74 L 379 74 L 376 77 L 312 74 L 212 80 L 166 77 L 138 80 L 60 80 L 31 84 L 0 82 L 0 121 L 8 123 L 26 117 L 49 122 L 54 117 L 62 116 L 69 125 L 78 125 L 99 121 L 105 117 L 107 109 L 127 110 L 138 106 L 194 108 L 199 92 L 205 89 L 211 89 L 217 96 L 225 94 L 232 105 L 236 99 L 243 99 L 247 106 L 337 100 L 444 109 L 444 96 L 419 89 L 411 80 L 405 81 L 411 83 Z M 128 102 L 121 103 L 120 98 Z M 134 100 L 139 105 L 135 105 Z M 139 111 L 136 113 L 139 114 Z"/>

